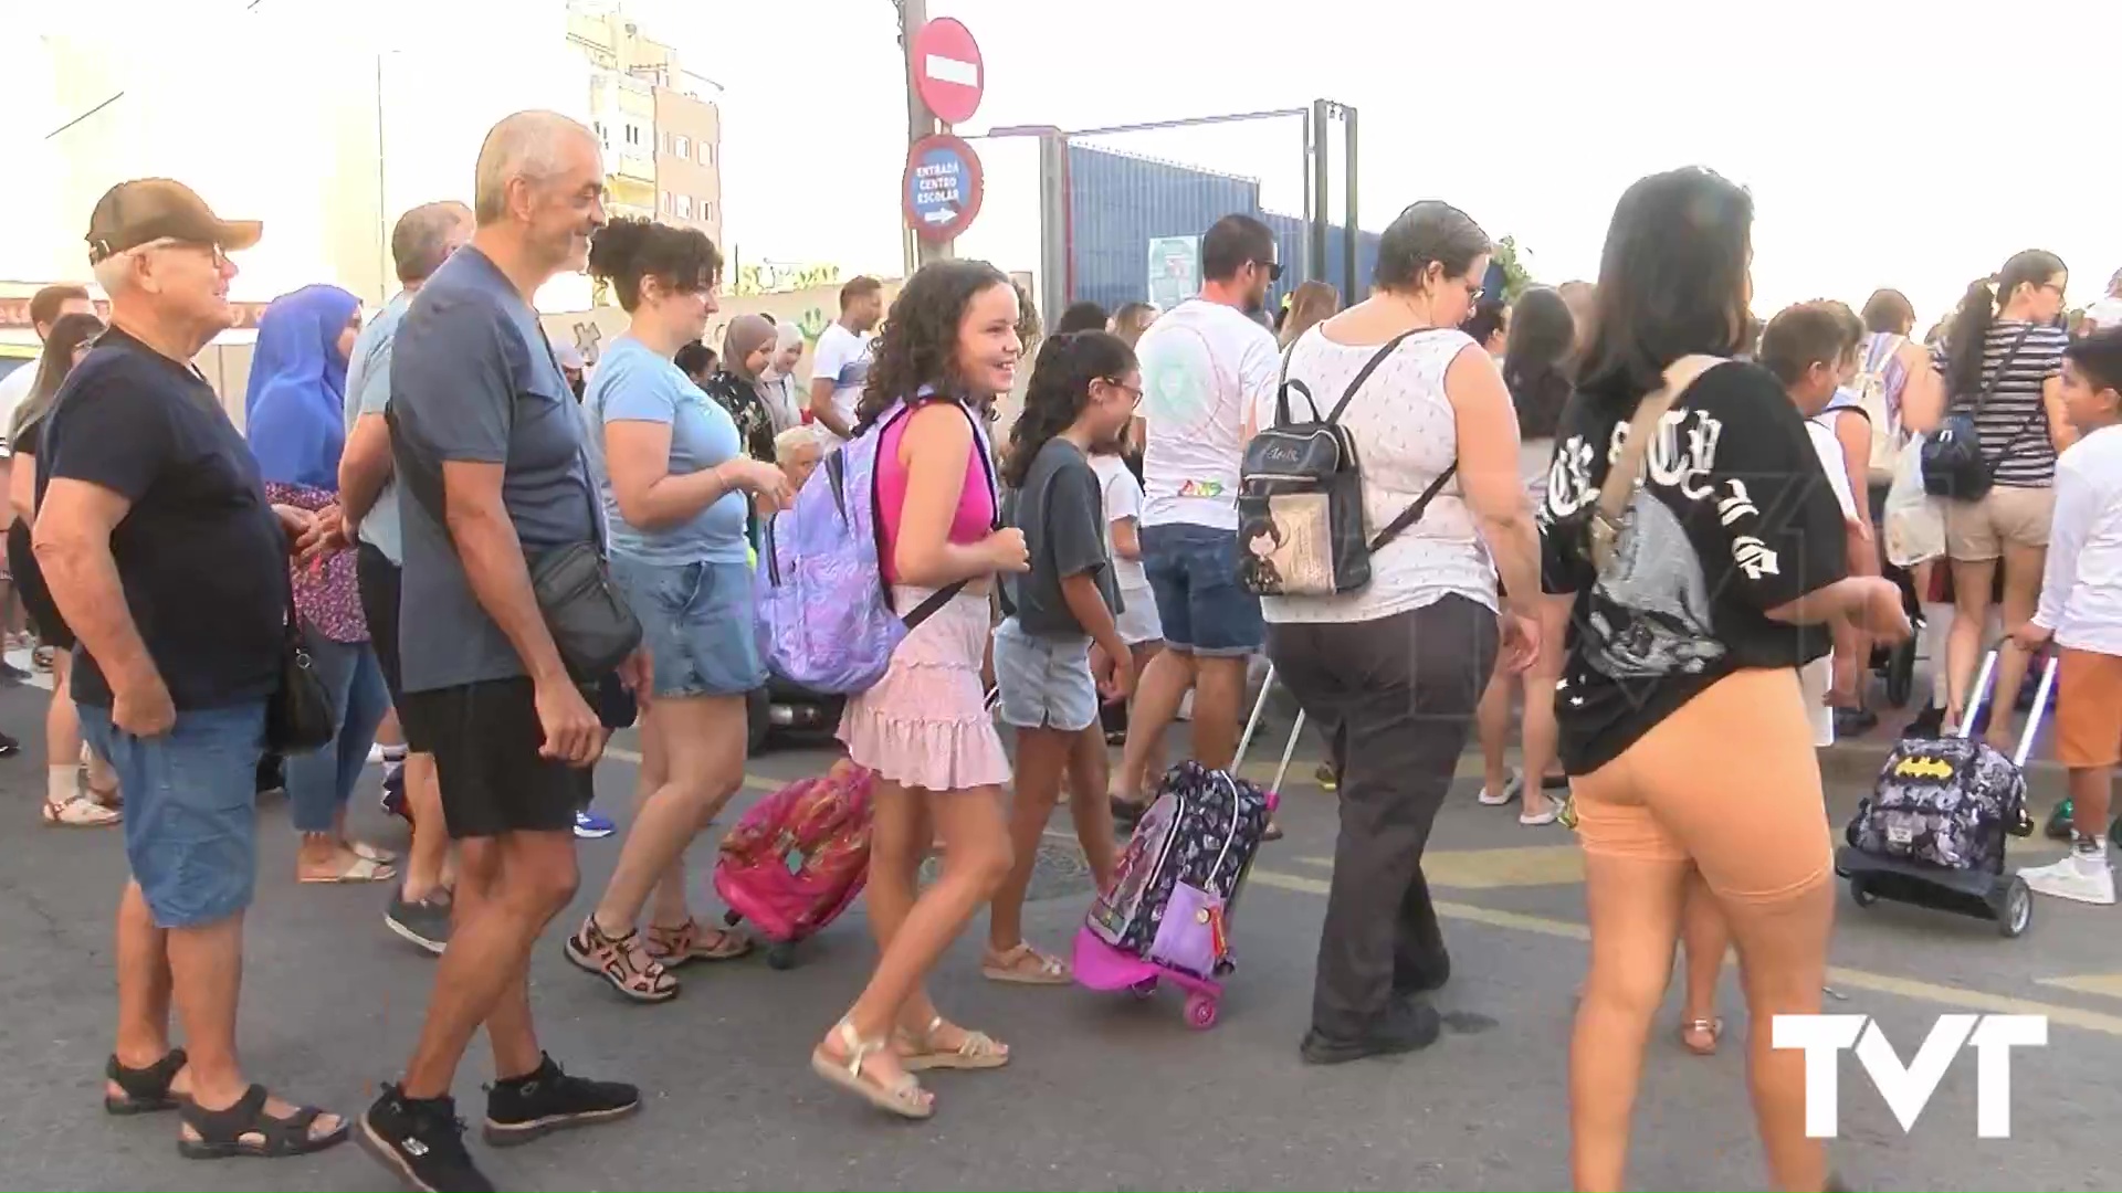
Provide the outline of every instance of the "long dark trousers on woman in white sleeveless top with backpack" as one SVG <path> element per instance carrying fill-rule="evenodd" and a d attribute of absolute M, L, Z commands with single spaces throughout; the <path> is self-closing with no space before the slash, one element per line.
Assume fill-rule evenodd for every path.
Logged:
<path fill-rule="evenodd" d="M 1496 669 L 1496 613 L 1466 596 L 1375 622 L 1280 622 L 1267 656 L 1341 773 L 1341 836 L 1320 932 L 1311 1027 L 1360 1040 L 1394 989 L 1449 972 L 1422 877 L 1437 809 Z"/>

